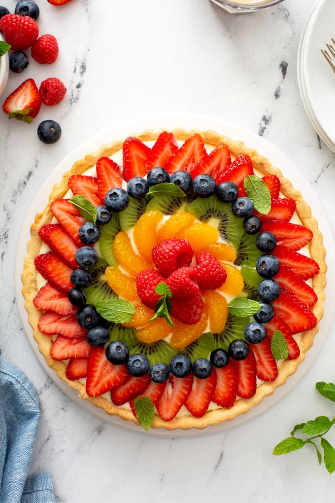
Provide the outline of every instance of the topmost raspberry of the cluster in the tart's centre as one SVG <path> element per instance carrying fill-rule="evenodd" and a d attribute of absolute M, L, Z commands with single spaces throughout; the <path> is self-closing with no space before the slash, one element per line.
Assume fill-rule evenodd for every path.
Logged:
<path fill-rule="evenodd" d="M 188 267 L 193 253 L 193 248 L 186 239 L 165 239 L 153 248 L 152 260 L 160 273 L 169 276 L 180 267 Z"/>

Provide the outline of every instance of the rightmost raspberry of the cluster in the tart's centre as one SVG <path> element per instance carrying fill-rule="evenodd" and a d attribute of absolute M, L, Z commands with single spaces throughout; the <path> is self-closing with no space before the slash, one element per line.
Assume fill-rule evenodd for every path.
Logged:
<path fill-rule="evenodd" d="M 193 280 L 201 290 L 216 290 L 225 283 L 227 273 L 211 253 L 200 251 L 196 256 L 196 261 Z"/>

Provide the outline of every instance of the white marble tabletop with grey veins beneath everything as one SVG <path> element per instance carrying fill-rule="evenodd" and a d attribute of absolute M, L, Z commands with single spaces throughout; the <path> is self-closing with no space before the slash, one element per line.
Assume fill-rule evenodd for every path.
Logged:
<path fill-rule="evenodd" d="M 15 6 L 14 0 L 3 4 Z M 297 45 L 312 5 L 286 0 L 234 17 L 209 0 L 72 0 L 58 9 L 40 0 L 40 32 L 58 38 L 60 56 L 52 66 L 31 61 L 24 74 L 11 74 L 0 103 L 23 77 L 39 84 L 58 76 L 68 93 L 31 126 L 0 113 L 0 347 L 39 391 L 42 418 L 31 471 L 53 474 L 59 502 L 116 496 L 140 503 L 333 501 L 335 482 L 314 452 L 280 458 L 271 452 L 292 425 L 334 415 L 333 404 L 314 391 L 316 381 L 335 380 L 334 330 L 313 368 L 262 416 L 216 436 L 155 438 L 105 425 L 47 378 L 25 339 L 13 280 L 21 221 L 46 175 L 96 131 L 141 115 L 212 115 L 259 132 L 300 167 L 332 218 L 335 156 L 308 122 L 296 82 Z M 51 146 L 36 135 L 47 118 L 63 129 Z"/>

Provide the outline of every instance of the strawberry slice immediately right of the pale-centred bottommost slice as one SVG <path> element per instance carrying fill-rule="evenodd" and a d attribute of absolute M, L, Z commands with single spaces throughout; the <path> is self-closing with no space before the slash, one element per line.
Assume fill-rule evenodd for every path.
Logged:
<path fill-rule="evenodd" d="M 194 417 L 202 417 L 207 411 L 216 386 L 216 373 L 213 371 L 207 379 L 193 376 L 193 386 L 185 405 Z"/>

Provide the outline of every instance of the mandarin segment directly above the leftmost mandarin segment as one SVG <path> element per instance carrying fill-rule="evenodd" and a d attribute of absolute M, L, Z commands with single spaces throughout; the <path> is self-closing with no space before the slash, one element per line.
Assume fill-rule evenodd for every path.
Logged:
<path fill-rule="evenodd" d="M 119 265 L 133 276 L 136 276 L 143 269 L 150 269 L 151 264 L 137 255 L 133 250 L 130 237 L 126 232 L 118 232 L 115 236 L 113 247 L 115 258 Z"/>

